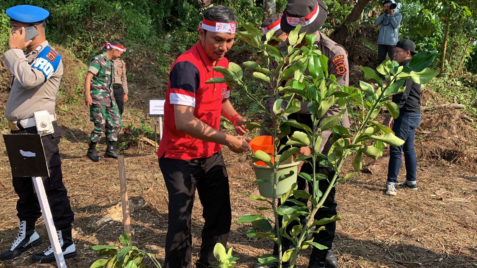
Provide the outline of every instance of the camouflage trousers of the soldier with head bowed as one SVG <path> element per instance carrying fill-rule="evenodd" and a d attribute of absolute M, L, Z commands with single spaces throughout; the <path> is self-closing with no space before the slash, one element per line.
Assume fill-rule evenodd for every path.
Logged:
<path fill-rule="evenodd" d="M 116 103 L 113 106 L 92 104 L 90 106 L 90 120 L 94 123 L 94 129 L 91 132 L 90 141 L 96 143 L 101 139 L 101 134 L 106 134 L 109 142 L 115 142 L 118 139 L 122 122 Z M 108 132 L 106 133 L 105 126 Z"/>

